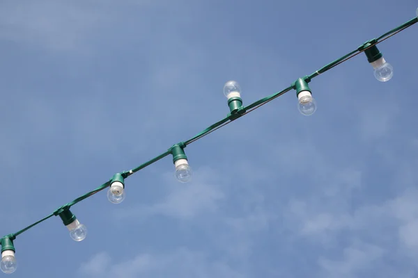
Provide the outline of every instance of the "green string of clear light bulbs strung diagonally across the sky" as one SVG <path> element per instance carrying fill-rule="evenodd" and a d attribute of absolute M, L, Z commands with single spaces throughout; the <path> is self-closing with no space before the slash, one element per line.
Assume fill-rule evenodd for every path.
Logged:
<path fill-rule="evenodd" d="M 418 13 L 418 11 L 417 11 Z M 332 63 L 329 63 L 325 65 L 324 67 L 321 67 L 319 70 L 316 70 L 316 72 L 310 74 L 309 76 L 304 76 L 302 79 L 298 79 L 288 88 L 281 90 L 280 92 L 276 92 L 273 95 L 270 95 L 268 97 L 264 97 L 263 99 L 259 99 L 258 101 L 255 101 L 252 104 L 249 104 L 248 106 L 242 107 L 242 99 L 240 99 L 240 89 L 238 86 L 238 83 L 231 83 L 231 88 L 235 88 L 238 90 L 231 91 L 233 94 L 226 96 L 229 98 L 229 106 L 231 108 L 231 113 L 225 117 L 224 119 L 220 120 L 219 122 L 216 122 L 215 124 L 212 124 L 207 129 L 204 129 L 200 133 L 196 134 L 196 136 L 190 138 L 189 140 L 186 140 L 184 142 L 180 142 L 176 145 L 173 145 L 170 147 L 166 152 L 160 154 L 159 156 L 156 156 L 155 158 L 151 159 L 150 161 L 147 161 L 146 163 L 143 163 L 139 165 L 138 167 L 133 168 L 132 170 L 121 172 L 118 174 L 115 174 L 114 177 L 109 179 L 109 181 L 103 183 L 98 188 L 95 188 L 95 190 L 92 190 L 77 199 L 74 199 L 72 202 L 69 202 L 68 204 L 65 204 L 54 213 L 47 215 L 45 218 L 42 218 L 38 222 L 35 222 L 28 227 L 15 232 L 14 234 L 9 234 L 8 236 L 3 236 L 3 238 L 0 238 L 1 240 L 1 254 L 2 254 L 2 261 L 1 261 L 1 270 L 6 273 L 12 273 L 15 270 L 15 260 L 14 259 L 14 252 L 15 249 L 13 247 L 13 240 L 20 234 L 24 233 L 25 231 L 31 229 L 32 227 L 35 227 L 36 225 L 40 224 L 41 222 L 44 222 L 45 220 L 52 218 L 52 216 L 60 216 L 63 220 L 63 223 L 66 227 L 70 230 L 70 235 L 74 240 L 80 241 L 83 240 L 86 236 L 86 229 L 83 224 L 80 224 L 75 217 L 70 212 L 70 207 L 74 206 L 75 204 L 82 202 L 84 199 L 87 199 L 88 197 L 91 197 L 95 195 L 96 193 L 99 193 L 100 191 L 104 190 L 105 188 L 109 188 L 109 195 L 116 196 L 116 193 L 119 193 L 118 196 L 121 196 L 121 192 L 123 193 L 124 188 L 124 179 L 127 177 L 130 177 L 130 175 L 138 172 L 141 169 L 144 169 L 148 165 L 151 165 L 157 161 L 160 161 L 162 158 L 169 156 L 170 154 L 173 155 L 173 163 L 176 165 L 176 170 L 178 169 L 178 179 L 179 181 L 185 182 L 189 180 L 189 176 L 191 174 L 191 168 L 188 165 L 187 162 L 187 156 L 185 155 L 184 148 L 187 145 L 192 144 L 192 142 L 195 142 L 196 140 L 199 140 L 208 134 L 212 133 L 213 131 L 216 131 L 217 129 L 222 128 L 223 126 L 226 126 L 227 124 L 233 122 L 234 120 L 238 119 L 238 117 L 242 117 L 244 115 L 247 115 L 251 111 L 256 110 L 257 108 L 260 108 L 261 106 L 268 104 L 268 102 L 272 101 L 273 99 L 276 99 L 277 97 L 280 97 L 281 95 L 284 95 L 286 92 L 290 90 L 297 90 L 297 95 L 304 95 L 303 97 L 307 97 L 309 99 L 310 97 L 310 103 L 309 101 L 306 102 L 307 104 L 312 104 L 313 99 L 311 98 L 311 92 L 309 89 L 309 86 L 307 83 L 311 81 L 311 79 L 314 79 L 316 76 L 319 76 L 320 74 L 323 74 L 327 72 L 328 70 L 331 70 L 333 67 L 336 67 L 337 65 L 340 65 L 341 63 L 346 62 L 347 60 L 350 60 L 351 58 L 357 56 L 358 54 L 365 52 L 367 58 L 369 59 L 369 63 L 373 65 L 373 67 L 376 68 L 381 65 L 385 64 L 385 61 L 379 62 L 379 59 L 382 60 L 382 54 L 378 51 L 376 48 L 376 45 L 380 42 L 383 42 L 384 40 L 387 40 L 388 38 L 391 38 L 393 35 L 396 35 L 397 33 L 405 30 L 406 28 L 416 24 L 418 22 L 418 18 L 415 17 L 411 19 L 410 21 L 406 22 L 405 24 L 402 24 L 401 26 L 398 26 L 391 31 L 388 31 L 387 33 L 381 35 L 380 37 L 369 40 L 368 42 L 365 42 L 362 44 L 361 47 L 357 48 L 354 51 L 351 51 L 350 53 L 342 56 L 341 58 L 338 58 L 334 60 Z M 374 65 L 373 63 L 380 63 L 379 65 Z M 376 75 L 376 73 L 375 73 Z M 391 76 L 392 77 L 392 76 Z M 376 76 L 378 78 L 378 76 Z M 383 77 L 381 77 L 383 79 Z M 380 80 L 380 81 L 386 81 L 386 80 Z M 229 82 L 235 82 L 235 81 L 229 81 Z M 229 92 L 229 93 L 231 93 Z M 225 93 L 225 88 L 224 88 Z M 303 93 L 303 94 L 302 94 Z M 302 98 L 303 98 L 302 97 Z M 300 105 L 304 105 L 305 102 L 302 103 L 302 98 L 300 98 Z M 314 111 L 314 110 L 313 110 Z M 302 111 L 301 111 L 302 112 Z M 306 111 L 305 111 L 306 112 Z M 313 112 L 309 112 L 313 113 Z M 305 113 L 304 115 L 311 115 L 309 113 Z M 176 174 L 177 175 L 177 174 Z M 124 196 L 124 195 L 123 195 Z M 109 197 L 109 196 L 108 196 Z M 121 202 L 123 200 L 123 197 L 121 198 L 114 198 L 113 201 L 115 203 Z M 112 201 L 112 202 L 113 202 Z M 6 255 L 5 255 L 6 254 Z M 7 258 L 6 258 L 7 257 Z"/>

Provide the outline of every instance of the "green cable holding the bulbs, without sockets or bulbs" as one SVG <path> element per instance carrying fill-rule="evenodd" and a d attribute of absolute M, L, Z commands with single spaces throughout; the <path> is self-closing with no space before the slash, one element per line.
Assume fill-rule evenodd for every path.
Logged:
<path fill-rule="evenodd" d="M 404 24 L 402 24 L 401 26 L 398 26 L 394 29 L 392 29 L 391 31 L 388 31 L 387 33 L 381 35 L 380 37 L 378 37 L 376 39 L 376 44 L 387 40 L 388 38 L 392 37 L 392 35 L 396 35 L 396 33 L 399 33 L 403 30 L 405 30 L 406 28 L 416 24 L 418 22 L 418 18 L 414 17 L 413 19 L 410 19 L 410 21 L 405 22 Z M 375 44 L 375 45 L 376 45 Z M 351 51 L 350 53 L 341 56 L 341 58 L 338 58 L 336 60 L 334 60 L 333 62 L 321 67 L 319 70 L 317 70 L 316 72 L 314 72 L 313 74 L 307 76 L 307 79 L 313 79 L 314 77 L 323 74 L 324 72 L 327 72 L 328 70 L 331 70 L 333 67 L 336 67 L 337 65 L 340 65 L 341 63 L 346 62 L 347 60 L 350 60 L 351 58 L 353 58 L 354 56 L 357 56 L 358 54 L 362 53 L 364 50 L 359 51 L 358 49 L 356 49 L 355 51 Z M 276 92 L 273 95 L 270 95 L 268 97 L 264 97 L 263 99 L 259 99 L 258 101 L 255 101 L 252 104 L 249 104 L 248 106 L 245 106 L 245 108 L 243 108 L 243 111 L 245 111 L 244 113 L 242 113 L 239 117 L 242 117 L 243 115 L 247 115 L 248 113 L 250 113 L 251 111 L 256 110 L 257 108 L 260 108 L 261 106 L 263 106 L 264 104 L 267 104 L 268 102 L 272 101 L 273 99 L 276 99 L 277 97 L 280 97 L 281 95 L 284 95 L 286 92 L 292 90 L 293 87 L 290 86 L 284 90 L 281 90 L 280 92 Z M 226 124 L 229 124 L 231 122 L 233 122 L 233 120 L 235 120 L 238 117 L 225 117 L 224 119 L 220 120 L 219 122 L 216 122 L 215 124 L 212 124 L 211 126 L 209 126 L 207 129 L 204 129 L 203 131 L 201 131 L 200 133 L 196 134 L 196 136 L 190 138 L 187 141 L 184 141 L 183 144 L 184 146 L 187 146 L 189 144 L 191 144 L 192 142 L 199 140 L 201 138 L 203 138 L 204 136 L 207 136 L 209 133 L 212 133 L 213 131 L 220 129 L 222 126 L 226 126 Z M 138 172 L 141 169 L 144 169 L 145 167 L 147 167 L 148 165 L 151 165 L 157 161 L 160 161 L 160 159 L 168 156 L 169 154 L 171 154 L 171 149 L 169 149 L 167 152 L 164 152 L 162 154 L 160 154 L 159 156 L 156 156 L 155 158 L 151 159 L 150 161 L 147 161 L 146 163 L 143 163 L 141 165 L 139 165 L 138 167 L 130 170 L 130 171 L 126 171 L 123 172 L 122 175 L 124 178 L 130 177 L 131 174 L 134 174 L 135 172 Z M 74 199 L 72 202 L 65 204 L 64 206 L 67 208 L 70 208 L 70 206 L 74 206 L 75 204 L 77 204 L 78 202 L 82 202 L 82 200 L 87 199 L 88 197 L 91 197 L 93 195 L 95 195 L 96 193 L 100 192 L 101 190 L 103 190 L 104 188 L 107 188 L 108 186 L 110 186 L 111 180 L 103 183 L 101 186 L 99 186 L 98 188 L 96 188 L 95 190 L 92 190 L 80 197 L 78 197 L 77 199 Z M 61 206 L 64 207 L 64 206 Z M 17 231 L 15 234 L 10 234 L 9 236 L 15 238 L 16 236 L 19 236 L 20 234 L 24 233 L 25 231 L 31 229 L 32 227 L 35 227 L 37 224 L 40 224 L 41 222 L 44 222 L 45 220 L 52 218 L 52 216 L 54 216 L 55 213 L 52 213 L 50 215 L 47 215 L 45 218 L 42 218 L 41 220 L 39 220 L 38 222 L 34 222 L 33 224 L 29 225 L 28 227 Z"/>

